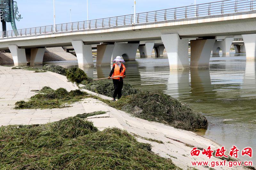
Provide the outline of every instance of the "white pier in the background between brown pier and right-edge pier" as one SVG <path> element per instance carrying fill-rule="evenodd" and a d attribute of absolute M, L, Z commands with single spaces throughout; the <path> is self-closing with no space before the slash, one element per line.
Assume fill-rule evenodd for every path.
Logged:
<path fill-rule="evenodd" d="M 222 50 L 223 55 L 229 54 L 230 46 L 231 46 L 233 40 L 234 40 L 233 37 L 231 37 L 231 38 L 228 37 L 222 41 L 215 41 L 214 46 L 212 48 L 212 54 L 218 55 L 220 53 L 220 48 Z"/>

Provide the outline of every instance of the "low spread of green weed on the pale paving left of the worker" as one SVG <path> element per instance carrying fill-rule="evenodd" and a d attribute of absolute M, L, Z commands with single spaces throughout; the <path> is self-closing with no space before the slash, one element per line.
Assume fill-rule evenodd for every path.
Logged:
<path fill-rule="evenodd" d="M 62 108 L 68 107 L 65 104 L 70 104 L 79 101 L 88 95 L 87 92 L 80 90 L 71 90 L 68 92 L 64 88 L 53 90 L 50 87 L 43 87 L 41 91 L 43 93 L 36 94 L 30 98 L 29 101 L 24 100 L 17 101 L 15 103 L 15 109 L 46 109 L 46 108 Z"/>

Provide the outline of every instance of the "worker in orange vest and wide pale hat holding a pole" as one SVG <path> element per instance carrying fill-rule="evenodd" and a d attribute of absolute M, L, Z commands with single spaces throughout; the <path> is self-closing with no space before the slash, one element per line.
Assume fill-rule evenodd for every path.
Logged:
<path fill-rule="evenodd" d="M 124 76 L 125 77 L 125 66 L 124 66 L 124 59 L 121 56 L 117 56 L 113 62 L 113 68 L 109 73 L 108 79 L 111 77 L 117 77 L 117 76 Z M 124 78 L 123 77 L 123 78 Z M 123 78 L 112 78 L 113 79 L 113 84 L 114 84 L 114 93 L 113 93 L 113 99 L 112 101 L 116 101 L 116 96 L 118 95 L 118 99 L 121 98 L 122 96 L 122 88 L 123 88 Z"/>

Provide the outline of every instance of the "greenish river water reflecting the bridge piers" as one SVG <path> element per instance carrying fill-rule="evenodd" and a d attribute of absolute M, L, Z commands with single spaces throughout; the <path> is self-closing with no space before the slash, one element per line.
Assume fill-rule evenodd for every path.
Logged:
<path fill-rule="evenodd" d="M 77 62 L 54 62 L 77 67 Z M 170 70 L 168 58 L 136 58 L 125 63 L 125 82 L 136 88 L 169 94 L 208 119 L 198 133 L 229 149 L 256 150 L 256 64 L 245 55 L 213 55 L 209 69 Z M 93 78 L 108 77 L 110 66 L 84 68 Z M 256 152 L 253 154 L 256 163 Z M 248 157 L 239 157 L 251 160 Z"/>

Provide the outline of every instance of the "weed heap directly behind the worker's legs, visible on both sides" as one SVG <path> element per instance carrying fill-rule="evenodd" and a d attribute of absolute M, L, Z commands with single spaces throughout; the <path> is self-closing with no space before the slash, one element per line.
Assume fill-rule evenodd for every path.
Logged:
<path fill-rule="evenodd" d="M 82 82 L 83 83 L 83 82 Z M 100 80 L 100 81 L 92 81 L 89 84 L 84 84 L 85 86 L 82 87 L 84 89 L 90 90 L 92 92 L 96 92 L 108 97 L 113 97 L 113 92 L 115 90 L 112 80 Z M 122 89 L 122 95 L 127 96 L 131 94 L 135 94 L 140 90 L 135 89 L 132 85 L 128 83 L 124 83 Z"/>

